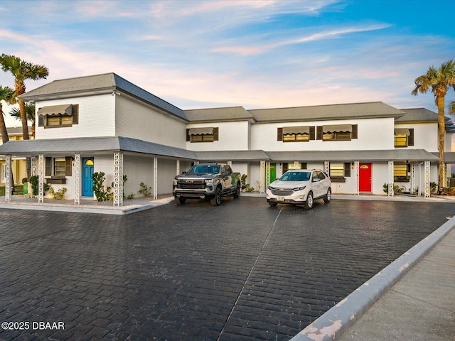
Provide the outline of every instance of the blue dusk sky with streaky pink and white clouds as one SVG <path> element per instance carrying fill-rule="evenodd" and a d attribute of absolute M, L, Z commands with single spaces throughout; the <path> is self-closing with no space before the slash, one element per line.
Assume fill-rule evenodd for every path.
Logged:
<path fill-rule="evenodd" d="M 411 91 L 455 58 L 454 13 L 452 0 L 2 0 L 0 53 L 48 67 L 27 90 L 115 72 L 181 109 L 382 101 L 437 112 L 431 92 Z M 0 85 L 13 77 L 0 71 Z"/>

